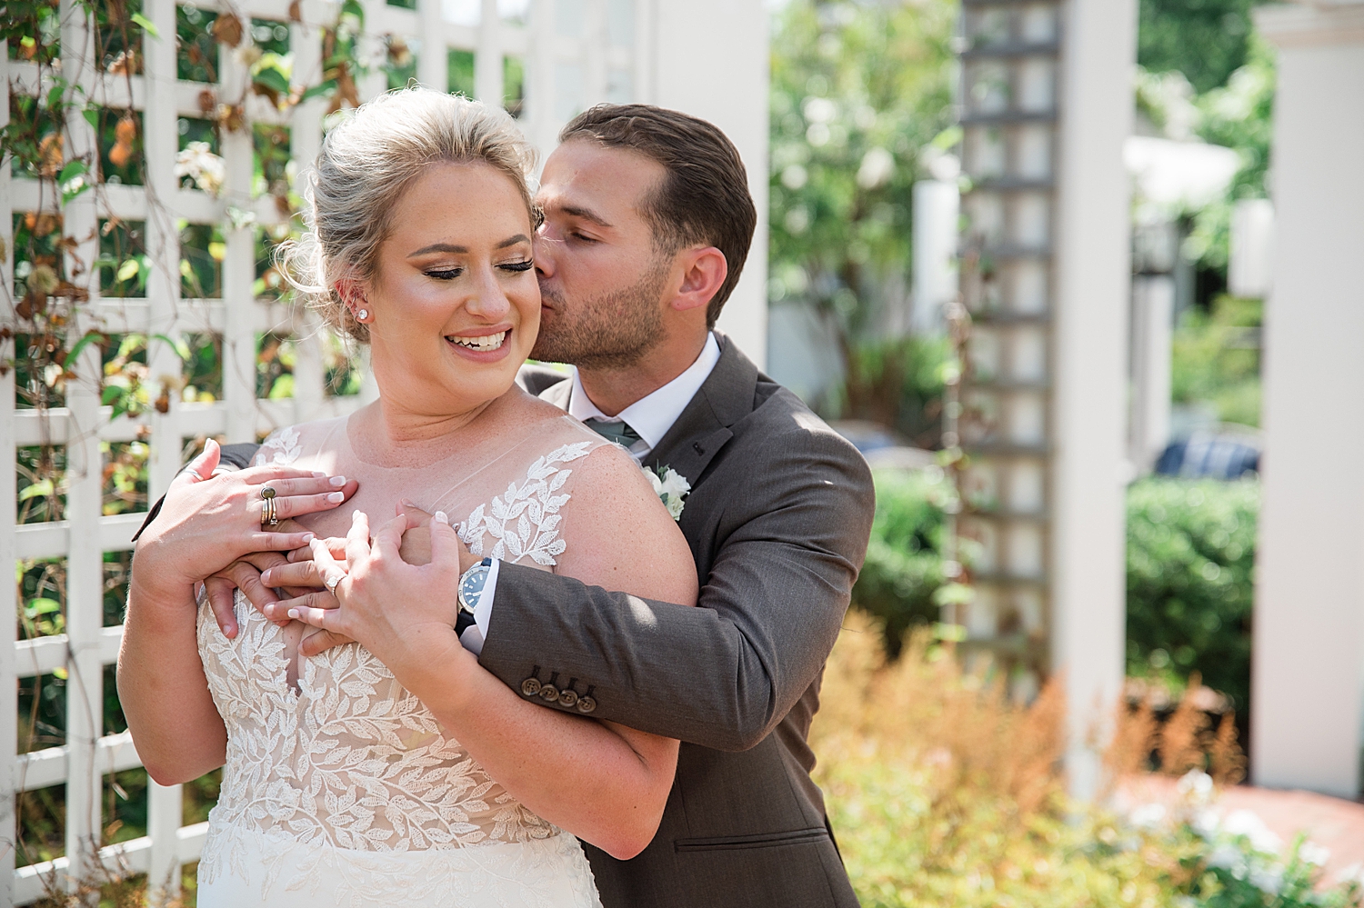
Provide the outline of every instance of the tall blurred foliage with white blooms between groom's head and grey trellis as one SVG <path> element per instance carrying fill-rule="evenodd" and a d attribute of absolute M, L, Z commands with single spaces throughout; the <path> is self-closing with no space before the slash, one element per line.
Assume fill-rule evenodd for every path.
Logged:
<path fill-rule="evenodd" d="M 768 296 L 813 307 L 839 352 L 824 412 L 911 436 L 932 435 L 945 350 L 899 339 L 893 312 L 925 149 L 955 142 L 955 16 L 948 0 L 791 0 L 772 25 Z"/>

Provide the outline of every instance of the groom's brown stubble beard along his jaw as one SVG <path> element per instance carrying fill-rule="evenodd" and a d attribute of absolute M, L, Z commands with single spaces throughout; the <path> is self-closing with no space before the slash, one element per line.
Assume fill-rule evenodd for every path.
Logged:
<path fill-rule="evenodd" d="M 636 365 L 662 344 L 663 285 L 671 258 L 656 255 L 649 270 L 630 286 L 569 303 L 551 288 L 540 288 L 554 318 L 542 320 L 531 357 L 569 363 L 584 369 L 623 369 Z"/>

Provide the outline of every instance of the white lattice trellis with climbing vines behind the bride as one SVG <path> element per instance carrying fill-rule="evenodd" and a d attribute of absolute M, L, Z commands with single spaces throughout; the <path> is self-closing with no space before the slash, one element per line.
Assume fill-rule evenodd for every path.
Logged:
<path fill-rule="evenodd" d="M 337 5 L 321 0 L 295 4 L 299 22 L 291 20 L 288 0 L 199 3 L 205 11 L 228 10 L 246 22 L 265 19 L 285 25 L 293 56 L 296 85 L 314 85 L 322 70 L 322 27 L 337 18 Z M 503 10 L 499 14 L 499 5 Z M 513 4 L 516 5 L 516 4 Z M 524 4 L 522 4 L 524 5 Z M 417 10 L 390 7 L 363 0 L 366 35 L 361 53 L 382 56 L 389 35 L 402 38 L 417 56 L 417 78 L 423 85 L 447 90 L 447 53 L 472 52 L 475 95 L 503 97 L 503 59 L 518 57 L 525 67 L 522 125 L 531 140 L 547 151 L 559 125 L 576 110 L 599 100 L 651 100 L 653 5 L 648 0 L 531 0 L 518 19 L 506 19 L 507 3 L 498 0 L 457 0 L 442 15 L 439 0 L 427 0 Z M 475 7 L 477 7 L 475 10 Z M 127 733 L 101 736 L 104 667 L 117 657 L 121 627 L 102 626 L 102 556 L 127 551 L 142 514 L 101 515 L 101 442 L 130 442 L 150 429 L 149 492 L 154 500 L 180 468 L 181 440 L 188 436 L 222 435 L 229 442 L 254 440 L 259 432 L 306 419 L 344 413 L 372 394 L 338 398 L 325 393 L 322 339 L 318 326 L 304 312 L 252 296 L 255 281 L 255 234 L 261 225 L 278 222 L 280 214 L 269 196 L 252 199 L 251 123 L 285 123 L 282 115 L 262 97 L 248 95 L 247 127 L 221 136 L 226 180 L 221 198 L 180 188 L 173 176 L 179 151 L 177 120 L 201 117 L 199 94 L 213 90 L 220 97 L 239 97 L 250 79 L 247 65 L 229 48 L 220 48 L 216 85 L 177 80 L 176 4 L 173 0 L 143 0 L 142 15 L 160 37 L 143 37 L 143 74 L 124 79 L 106 76 L 91 67 L 91 29 L 71 0 L 61 0 L 61 72 L 78 82 L 97 104 L 112 109 L 134 109 L 143 115 L 146 187 L 101 187 L 86 192 L 63 210 L 64 233 L 80 239 L 71 259 L 86 263 L 98 255 L 95 228 L 101 218 L 117 217 L 146 224 L 146 249 L 151 275 L 146 299 L 100 299 L 98 270 L 82 279 L 90 282 L 90 301 L 71 327 L 70 344 L 89 330 L 105 333 L 165 334 L 211 333 L 222 339 L 222 399 L 213 404 L 172 401 L 166 413 L 110 420 L 100 405 L 100 391 L 90 376 L 100 375 L 98 350 L 91 345 L 80 354 L 75 372 L 85 380 L 68 382 L 67 406 L 50 410 L 20 410 L 15 406 L 15 371 L 0 378 L 0 556 L 16 559 L 67 559 L 67 633 L 31 641 L 16 641 L 18 594 L 15 586 L 0 584 L 0 683 L 15 690 L 15 680 L 65 669 L 65 746 L 15 755 L 18 709 L 14 695 L 0 698 L 0 890 L 7 904 L 25 904 L 42 896 L 46 878 L 68 883 L 87 875 L 100 837 L 101 777 L 139 766 Z M 250 30 L 248 30 L 250 31 Z M 250 38 L 248 38 L 250 40 Z M 434 52 L 432 52 L 434 49 Z M 33 64 L 12 61 L 0 44 L 0 82 L 20 94 L 37 94 Z M 360 82 L 361 97 L 385 90 L 385 74 L 376 68 Z M 288 115 L 291 157 L 299 164 L 312 161 L 322 135 L 327 101 L 314 98 Z M 0 93 L 0 125 L 8 121 L 8 95 Z M 94 130 L 74 113 L 67 123 L 67 157 L 94 150 Z M 8 160 L 0 166 L 0 239 L 5 255 L 3 278 L 12 285 L 12 222 L 15 213 L 56 210 L 53 188 L 35 180 L 11 176 Z M 229 207 L 254 215 L 254 224 L 229 218 Z M 180 241 L 177 220 L 218 225 L 225 237 L 221 299 L 181 297 Z M 87 239 L 89 237 L 89 239 Z M 256 398 L 256 338 L 263 333 L 297 338 L 292 399 Z M 15 356 L 14 341 L 4 339 L 0 360 Z M 149 348 L 149 375 L 179 375 L 181 364 L 165 344 Z M 16 447 L 53 444 L 65 449 L 67 507 L 60 522 L 16 525 Z M 65 853 L 45 864 L 15 868 L 15 792 L 67 784 Z M 143 838 L 105 847 L 100 859 L 115 871 L 147 873 L 153 886 L 170 881 L 179 885 L 177 868 L 198 858 L 205 823 L 181 826 L 179 787 L 149 784 L 149 834 Z"/>

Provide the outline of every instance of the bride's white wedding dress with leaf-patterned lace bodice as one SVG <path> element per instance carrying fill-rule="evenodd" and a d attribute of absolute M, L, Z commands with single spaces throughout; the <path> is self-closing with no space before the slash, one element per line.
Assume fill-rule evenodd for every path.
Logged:
<path fill-rule="evenodd" d="M 371 502 L 424 499 L 462 517 L 458 530 L 475 554 L 548 569 L 565 551 L 569 465 L 602 443 L 559 417 L 499 446 L 476 470 L 386 470 L 378 484 L 391 488 L 370 481 L 361 491 Z M 258 462 L 336 472 L 346 458 L 353 469 L 345 421 L 333 420 L 276 434 Z M 442 470 L 464 476 L 443 495 L 419 496 L 441 488 L 432 483 Z M 295 687 L 285 630 L 240 592 L 237 620 L 228 639 L 201 604 L 199 653 L 228 729 L 199 863 L 202 908 L 600 908 L 577 838 L 490 778 L 366 649 L 297 660 Z"/>

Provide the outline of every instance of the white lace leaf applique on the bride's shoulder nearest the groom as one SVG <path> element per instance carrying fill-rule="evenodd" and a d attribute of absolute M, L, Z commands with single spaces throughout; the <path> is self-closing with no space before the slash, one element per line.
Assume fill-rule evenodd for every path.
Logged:
<path fill-rule="evenodd" d="M 520 487 L 516 481 L 507 483 L 503 495 L 473 509 L 458 528 L 460 539 L 469 551 L 513 564 L 524 558 L 542 567 L 557 564 L 555 558 L 567 549 L 567 543 L 559 539 L 559 509 L 569 502 L 569 496 L 555 492 L 573 474 L 573 470 L 559 465 L 587 457 L 592 444 L 577 442 L 557 447 L 531 465 Z M 494 540 L 491 549 L 484 537 Z"/>

